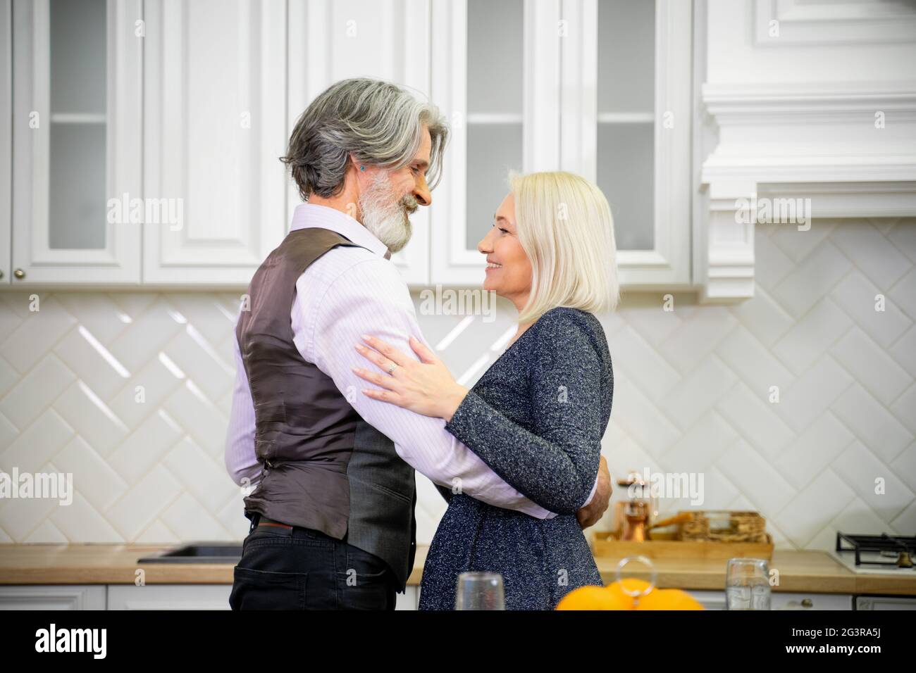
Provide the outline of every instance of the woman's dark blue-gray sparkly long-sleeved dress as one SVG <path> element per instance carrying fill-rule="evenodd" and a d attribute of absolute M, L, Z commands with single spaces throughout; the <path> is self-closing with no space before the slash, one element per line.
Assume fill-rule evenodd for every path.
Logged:
<path fill-rule="evenodd" d="M 576 587 L 603 583 L 575 515 L 594 485 L 613 394 L 605 332 L 579 309 L 544 313 L 485 372 L 445 428 L 559 516 L 439 487 L 449 507 L 423 568 L 420 610 L 453 610 L 466 570 L 502 574 L 507 610 L 551 610 Z"/>

